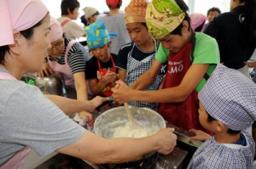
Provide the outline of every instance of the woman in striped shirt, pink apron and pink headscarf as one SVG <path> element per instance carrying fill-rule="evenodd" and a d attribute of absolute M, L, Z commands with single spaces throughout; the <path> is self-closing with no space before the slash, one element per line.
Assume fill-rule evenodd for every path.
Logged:
<path fill-rule="evenodd" d="M 90 90 L 87 90 L 89 87 L 86 85 L 84 74 L 85 62 L 89 59 L 88 53 L 79 42 L 63 38 L 60 23 L 52 17 L 50 26 L 51 31 L 48 37 L 52 47 L 48 50 L 48 63 L 44 63 L 44 69 L 38 72 L 38 76 L 49 75 L 54 70 L 64 79 L 67 98 L 88 99 Z M 76 114 L 74 121 L 78 121 L 82 126 L 86 124 L 86 121 L 89 126 L 93 123 L 92 116 L 87 112 Z"/>

